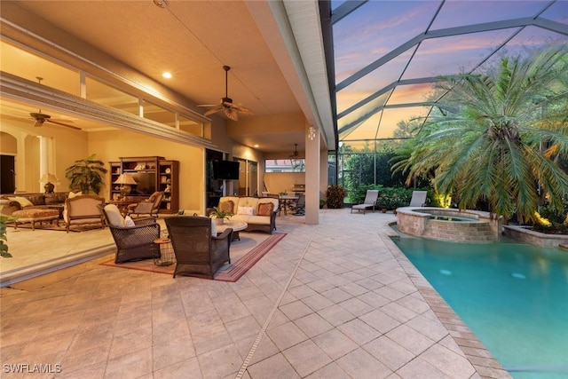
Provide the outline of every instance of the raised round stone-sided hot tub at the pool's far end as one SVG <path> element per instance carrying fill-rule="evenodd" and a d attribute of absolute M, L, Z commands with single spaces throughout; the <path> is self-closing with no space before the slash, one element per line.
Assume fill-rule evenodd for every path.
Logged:
<path fill-rule="evenodd" d="M 489 212 L 433 207 L 397 209 L 397 227 L 402 233 L 444 241 L 497 241 L 500 220 Z"/>

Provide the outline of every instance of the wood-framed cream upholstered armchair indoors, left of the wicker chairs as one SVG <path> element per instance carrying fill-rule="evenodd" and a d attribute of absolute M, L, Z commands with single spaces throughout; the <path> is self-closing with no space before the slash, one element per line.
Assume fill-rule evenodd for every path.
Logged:
<path fill-rule="evenodd" d="M 103 217 L 97 209 L 99 204 L 104 203 L 105 199 L 93 194 L 68 197 L 63 209 L 63 221 L 65 221 L 67 233 L 71 225 L 100 224 L 100 227 L 104 228 Z"/>

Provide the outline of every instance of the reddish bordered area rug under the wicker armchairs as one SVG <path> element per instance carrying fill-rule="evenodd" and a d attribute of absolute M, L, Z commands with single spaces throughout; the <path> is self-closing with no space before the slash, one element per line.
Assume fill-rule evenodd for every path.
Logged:
<path fill-rule="evenodd" d="M 268 253 L 282 238 L 286 236 L 286 233 L 274 233 L 272 235 L 266 234 L 267 237 L 264 238 L 264 234 L 254 234 L 256 235 L 250 233 L 250 236 L 247 236 L 247 234 L 241 233 L 241 241 L 231 242 L 232 263 L 221 267 L 215 274 L 214 280 L 234 282 L 241 279 L 242 275 L 248 272 L 248 270 L 253 267 L 256 262 L 264 257 L 266 253 Z M 252 249 L 249 249 L 249 247 L 252 247 Z M 173 275 L 174 268 L 176 267 L 175 264 L 169 266 L 154 265 L 154 259 L 115 264 L 114 257 L 100 265 L 130 270 L 166 273 L 169 275 Z"/>

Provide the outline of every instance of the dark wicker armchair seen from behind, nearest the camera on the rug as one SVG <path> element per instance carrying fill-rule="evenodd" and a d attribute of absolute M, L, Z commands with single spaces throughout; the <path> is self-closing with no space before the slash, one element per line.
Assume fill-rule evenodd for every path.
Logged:
<path fill-rule="evenodd" d="M 212 236 L 209 217 L 168 217 L 165 222 L 176 255 L 174 278 L 180 274 L 213 279 L 225 262 L 231 263 L 233 229 Z"/>

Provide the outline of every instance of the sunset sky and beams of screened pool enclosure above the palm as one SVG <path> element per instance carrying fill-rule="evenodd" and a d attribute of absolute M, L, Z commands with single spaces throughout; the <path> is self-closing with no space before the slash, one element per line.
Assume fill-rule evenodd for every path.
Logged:
<path fill-rule="evenodd" d="M 504 54 L 568 43 L 566 1 L 333 1 L 340 144 L 409 137 L 443 93 L 440 75 L 477 72 Z M 406 130 L 407 131 L 407 130 Z"/>

